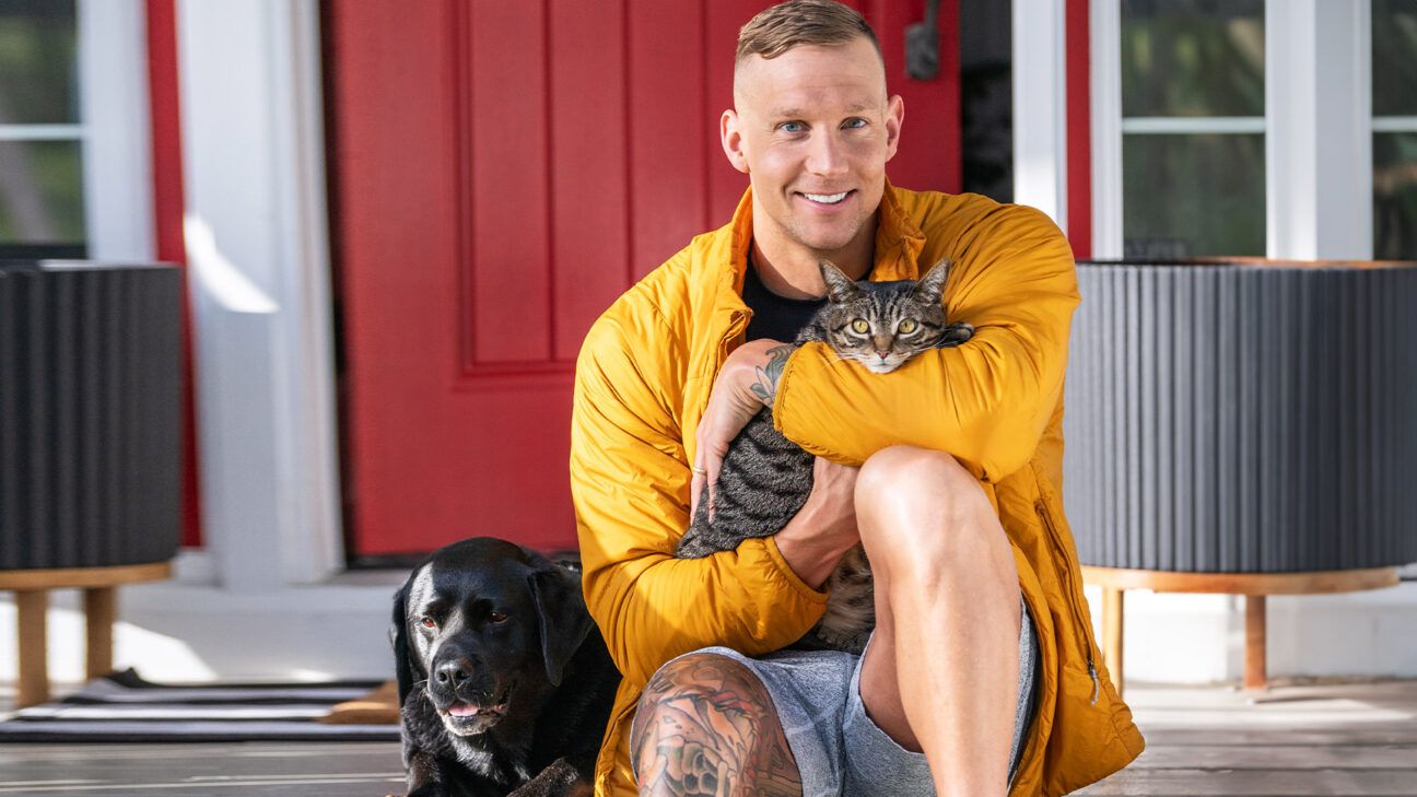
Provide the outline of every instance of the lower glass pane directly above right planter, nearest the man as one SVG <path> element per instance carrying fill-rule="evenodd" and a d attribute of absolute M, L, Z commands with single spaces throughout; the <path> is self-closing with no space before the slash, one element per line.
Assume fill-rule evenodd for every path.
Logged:
<path fill-rule="evenodd" d="M 1122 136 L 1127 257 L 1264 255 L 1264 135 Z"/>

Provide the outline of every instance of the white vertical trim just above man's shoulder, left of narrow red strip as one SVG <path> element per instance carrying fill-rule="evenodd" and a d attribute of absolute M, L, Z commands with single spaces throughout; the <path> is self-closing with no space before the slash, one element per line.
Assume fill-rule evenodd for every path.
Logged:
<path fill-rule="evenodd" d="M 1013 201 L 1067 231 L 1063 0 L 1013 0 Z"/>

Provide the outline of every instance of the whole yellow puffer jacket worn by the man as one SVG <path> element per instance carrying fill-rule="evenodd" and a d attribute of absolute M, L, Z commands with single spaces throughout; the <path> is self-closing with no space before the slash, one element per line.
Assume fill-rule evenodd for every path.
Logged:
<path fill-rule="evenodd" d="M 577 362 L 571 489 L 585 601 L 625 676 L 595 767 L 601 797 L 636 793 L 629 726 L 655 669 L 708 645 L 775 651 L 826 604 L 772 537 L 706 559 L 672 554 L 689 525 L 694 430 L 748 323 L 740 294 L 751 234 L 750 191 L 728 225 L 621 296 Z M 886 376 L 811 343 L 788 362 L 774 416 L 788 438 L 842 464 L 907 442 L 948 451 L 979 478 L 1013 545 L 1040 642 L 1040 701 L 1012 794 L 1066 794 L 1144 746 L 1102 668 L 1063 516 L 1073 254 L 1037 210 L 887 184 L 871 279 L 918 278 L 941 257 L 954 262 L 948 318 L 972 323 L 973 339 Z"/>

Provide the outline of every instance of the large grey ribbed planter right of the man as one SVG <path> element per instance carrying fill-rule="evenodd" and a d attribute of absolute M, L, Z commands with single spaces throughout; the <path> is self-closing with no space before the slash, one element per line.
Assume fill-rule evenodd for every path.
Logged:
<path fill-rule="evenodd" d="M 1417 264 L 1080 262 L 1066 503 L 1083 563 L 1417 562 Z"/>

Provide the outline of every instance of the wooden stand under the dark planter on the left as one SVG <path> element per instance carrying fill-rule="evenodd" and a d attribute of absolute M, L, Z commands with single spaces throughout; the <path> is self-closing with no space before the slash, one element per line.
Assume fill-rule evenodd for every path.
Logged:
<path fill-rule="evenodd" d="M 55 567 L 38 570 L 0 570 L 0 590 L 14 591 L 18 613 L 20 679 L 16 706 L 26 708 L 50 699 L 48 632 L 45 610 L 50 590 L 84 590 L 88 678 L 113 669 L 113 623 L 118 620 L 118 587 L 139 581 L 170 579 L 170 562 L 120 564 L 115 567 Z"/>

